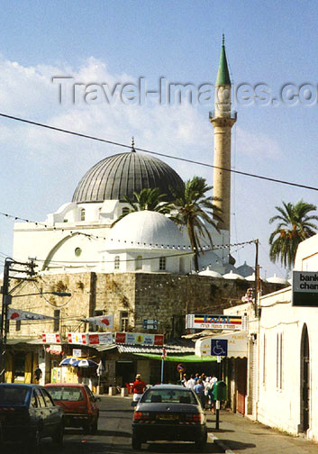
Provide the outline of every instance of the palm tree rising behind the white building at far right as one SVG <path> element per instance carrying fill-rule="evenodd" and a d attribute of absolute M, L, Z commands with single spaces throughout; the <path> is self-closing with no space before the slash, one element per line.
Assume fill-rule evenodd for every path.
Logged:
<path fill-rule="evenodd" d="M 301 199 L 296 204 L 283 202 L 275 207 L 280 214 L 269 219 L 269 223 L 278 221 L 277 227 L 269 237 L 269 258 L 274 263 L 280 259 L 285 268 L 293 268 L 298 244 L 315 234 L 317 226 L 312 221 L 318 221 L 317 215 L 308 213 L 317 209 L 313 204 L 307 204 Z"/>

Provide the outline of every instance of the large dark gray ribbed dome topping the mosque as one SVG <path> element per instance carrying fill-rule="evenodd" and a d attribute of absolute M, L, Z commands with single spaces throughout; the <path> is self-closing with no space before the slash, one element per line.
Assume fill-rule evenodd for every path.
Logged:
<path fill-rule="evenodd" d="M 154 187 L 159 187 L 160 193 L 167 194 L 167 201 L 171 201 L 169 186 L 182 184 L 177 172 L 165 162 L 132 151 L 97 162 L 78 183 L 72 202 L 123 201 L 124 195 L 132 199 L 133 192 Z"/>

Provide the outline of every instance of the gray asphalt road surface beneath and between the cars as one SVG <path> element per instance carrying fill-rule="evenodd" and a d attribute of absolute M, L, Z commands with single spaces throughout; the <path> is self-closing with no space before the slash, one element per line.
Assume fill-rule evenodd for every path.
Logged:
<path fill-rule="evenodd" d="M 137 454 L 140 450 L 132 449 L 132 399 L 119 396 L 101 396 L 99 403 L 100 418 L 95 435 L 84 435 L 81 429 L 67 428 L 64 436 L 64 448 L 58 449 L 50 439 L 41 440 L 41 454 Z M 211 416 L 208 416 L 211 422 Z M 194 443 L 151 442 L 142 445 L 142 451 L 166 454 L 191 454 L 198 452 Z M 1 454 L 25 454 L 17 444 L 8 443 Z M 32 451 L 30 451 L 32 452 Z M 214 443 L 208 443 L 201 451 L 204 453 L 222 453 Z"/>

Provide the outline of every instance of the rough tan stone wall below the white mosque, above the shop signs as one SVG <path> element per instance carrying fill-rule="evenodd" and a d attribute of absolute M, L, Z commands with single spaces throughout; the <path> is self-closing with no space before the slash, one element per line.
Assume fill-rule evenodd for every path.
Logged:
<path fill-rule="evenodd" d="M 15 284 L 15 282 L 14 282 Z M 166 273 L 77 273 L 44 275 L 35 282 L 25 281 L 14 291 L 12 307 L 54 316 L 59 311 L 59 332 L 92 331 L 81 318 L 96 311 L 114 314 L 114 331 L 121 331 L 121 314 L 128 313 L 125 331 L 143 332 L 143 321 L 158 319 L 158 333 L 166 339 L 185 332 L 186 313 L 223 313 L 223 309 L 241 304 L 251 283 L 245 280 Z M 263 285 L 263 295 L 282 286 Z M 45 295 L 69 292 L 71 296 Z M 43 292 L 44 295 L 20 296 Z M 56 323 L 55 323 L 56 325 Z M 56 328 L 56 326 L 55 326 Z M 54 332 L 53 321 L 10 322 L 9 337 L 38 337 Z"/>

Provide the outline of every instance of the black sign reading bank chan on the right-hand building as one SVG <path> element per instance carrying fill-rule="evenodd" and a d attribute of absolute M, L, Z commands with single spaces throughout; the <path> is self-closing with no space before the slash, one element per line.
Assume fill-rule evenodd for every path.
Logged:
<path fill-rule="evenodd" d="M 293 271 L 293 305 L 318 307 L 318 271 Z"/>

